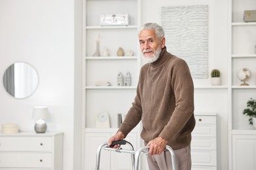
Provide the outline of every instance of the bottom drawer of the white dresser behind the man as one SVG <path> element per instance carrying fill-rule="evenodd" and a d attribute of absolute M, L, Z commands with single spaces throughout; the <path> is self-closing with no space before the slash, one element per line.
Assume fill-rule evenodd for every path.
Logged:
<path fill-rule="evenodd" d="M 216 150 L 192 150 L 191 151 L 192 165 L 217 165 Z"/>

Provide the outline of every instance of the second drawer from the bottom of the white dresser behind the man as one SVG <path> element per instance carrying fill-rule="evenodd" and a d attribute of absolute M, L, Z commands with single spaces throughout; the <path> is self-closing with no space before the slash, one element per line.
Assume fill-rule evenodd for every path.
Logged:
<path fill-rule="evenodd" d="M 215 137 L 192 137 L 191 150 L 216 150 Z"/>

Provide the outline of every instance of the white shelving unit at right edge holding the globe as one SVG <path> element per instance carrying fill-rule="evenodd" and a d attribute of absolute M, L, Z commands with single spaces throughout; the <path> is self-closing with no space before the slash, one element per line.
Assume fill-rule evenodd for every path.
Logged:
<path fill-rule="evenodd" d="M 244 22 L 244 10 L 255 10 L 256 1 L 229 0 L 228 150 L 229 169 L 256 169 L 256 131 L 242 114 L 250 97 L 256 99 L 256 22 Z M 249 86 L 240 86 L 238 71 L 247 68 Z M 245 156 L 246 153 L 246 156 Z"/>

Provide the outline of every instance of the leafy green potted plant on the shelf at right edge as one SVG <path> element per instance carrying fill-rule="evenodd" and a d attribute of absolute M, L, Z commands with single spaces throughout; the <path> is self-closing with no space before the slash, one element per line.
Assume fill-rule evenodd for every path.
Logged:
<path fill-rule="evenodd" d="M 244 109 L 243 114 L 249 116 L 249 124 L 256 129 L 256 100 L 250 98 L 247 101 L 247 109 Z"/>

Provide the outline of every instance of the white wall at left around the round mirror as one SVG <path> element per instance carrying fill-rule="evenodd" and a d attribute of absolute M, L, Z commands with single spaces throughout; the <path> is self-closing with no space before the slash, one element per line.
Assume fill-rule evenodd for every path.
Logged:
<path fill-rule="evenodd" d="M 64 170 L 73 169 L 74 46 L 74 0 L 0 1 L 0 124 L 33 131 L 33 106 L 48 106 L 49 131 L 64 131 Z M 16 61 L 39 74 L 36 92 L 26 99 L 3 88 L 3 73 Z"/>

